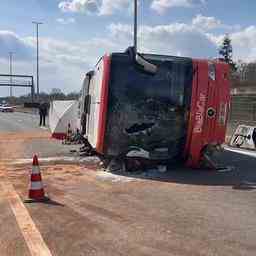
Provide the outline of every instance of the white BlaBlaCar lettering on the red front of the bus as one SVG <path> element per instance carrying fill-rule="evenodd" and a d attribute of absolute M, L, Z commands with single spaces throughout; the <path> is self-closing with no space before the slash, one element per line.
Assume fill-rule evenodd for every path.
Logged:
<path fill-rule="evenodd" d="M 199 99 L 196 102 L 196 116 L 195 116 L 195 126 L 193 129 L 193 133 L 201 133 L 203 130 L 205 105 L 206 105 L 206 95 L 203 93 L 200 93 Z"/>

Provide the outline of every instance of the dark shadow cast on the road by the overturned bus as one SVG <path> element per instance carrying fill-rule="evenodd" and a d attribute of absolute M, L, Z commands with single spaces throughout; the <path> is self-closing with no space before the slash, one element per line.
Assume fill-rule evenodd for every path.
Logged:
<path fill-rule="evenodd" d="M 160 173 L 157 170 L 147 170 L 143 173 L 114 172 L 114 174 L 140 179 L 150 179 L 189 185 L 232 186 L 234 189 L 256 188 L 256 158 L 234 152 L 225 151 L 219 157 L 220 164 L 232 166 L 228 172 L 207 169 L 193 170 L 182 165 L 171 165 L 168 171 Z"/>

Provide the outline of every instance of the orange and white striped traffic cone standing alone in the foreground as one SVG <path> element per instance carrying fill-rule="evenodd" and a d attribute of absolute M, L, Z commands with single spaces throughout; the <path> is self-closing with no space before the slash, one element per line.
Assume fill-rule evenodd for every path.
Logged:
<path fill-rule="evenodd" d="M 44 186 L 42 182 L 42 176 L 40 172 L 38 158 L 37 158 L 37 155 L 34 155 L 31 178 L 30 178 L 30 188 L 28 191 L 28 199 L 25 200 L 25 202 L 26 203 L 44 202 L 48 200 L 49 198 L 46 197 L 44 193 Z"/>

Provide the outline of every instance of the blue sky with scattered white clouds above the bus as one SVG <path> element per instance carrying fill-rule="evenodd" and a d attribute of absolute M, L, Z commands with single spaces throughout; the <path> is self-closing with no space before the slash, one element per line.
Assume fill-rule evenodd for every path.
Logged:
<path fill-rule="evenodd" d="M 224 35 L 235 60 L 256 60 L 256 1 L 138 0 L 140 52 L 218 57 Z M 81 89 L 84 75 L 105 53 L 133 43 L 133 0 L 1 0 L 0 73 L 36 77 L 35 26 L 39 27 L 40 90 Z M 0 97 L 8 88 L 0 87 Z M 14 95 L 29 93 L 15 88 Z"/>

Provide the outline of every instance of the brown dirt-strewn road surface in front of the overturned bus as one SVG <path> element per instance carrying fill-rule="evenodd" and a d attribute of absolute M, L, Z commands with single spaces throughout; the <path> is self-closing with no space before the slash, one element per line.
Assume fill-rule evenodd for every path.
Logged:
<path fill-rule="evenodd" d="M 95 162 L 44 162 L 51 201 L 23 204 L 31 165 L 10 161 L 45 156 L 52 143 L 47 131 L 0 135 L 0 255 L 255 255 L 256 193 L 234 189 L 237 173 L 111 174 Z M 255 166 L 244 157 L 237 168 L 249 160 Z"/>

